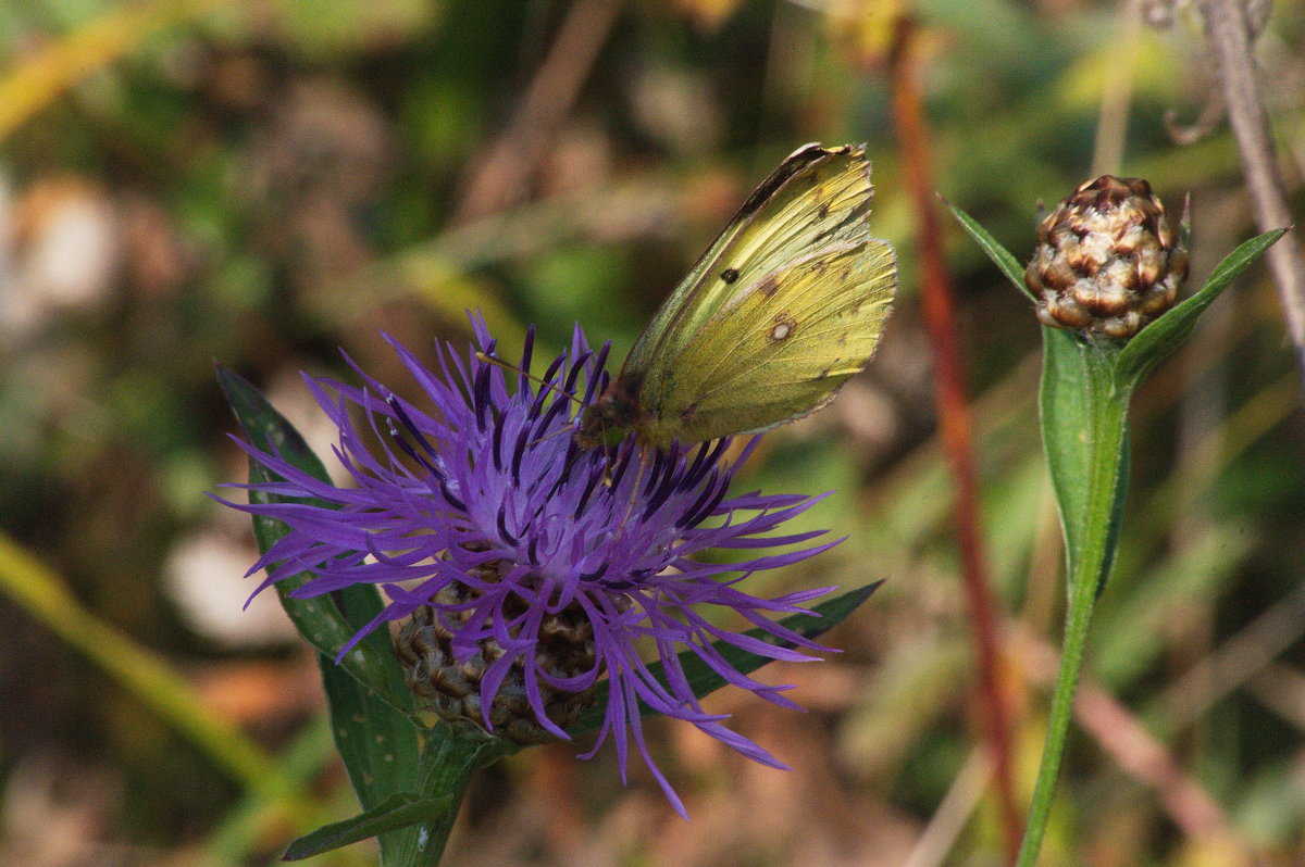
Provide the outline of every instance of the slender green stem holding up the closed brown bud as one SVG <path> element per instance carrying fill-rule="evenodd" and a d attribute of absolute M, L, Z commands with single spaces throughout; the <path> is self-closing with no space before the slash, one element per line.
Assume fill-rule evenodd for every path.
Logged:
<path fill-rule="evenodd" d="M 1069 606 L 1065 613 L 1065 638 L 1060 673 L 1052 698 L 1047 742 L 1037 769 L 1028 823 L 1019 847 L 1017 867 L 1034 867 L 1047 830 L 1056 780 L 1065 754 L 1065 738 L 1074 711 L 1074 691 L 1083 664 L 1083 648 L 1092 619 L 1092 609 L 1105 585 L 1118 540 L 1120 510 L 1128 488 L 1128 405 L 1129 394 L 1121 394 L 1112 370 L 1116 349 L 1111 345 L 1086 343 L 1079 347 L 1079 361 L 1086 374 L 1079 381 L 1086 387 L 1086 429 L 1075 432 L 1078 447 L 1084 450 L 1086 490 L 1079 501 L 1082 512 L 1069 514 L 1061 499 L 1061 520 L 1066 523 L 1069 553 Z M 1045 399 L 1044 394 L 1044 399 Z M 1064 432 L 1062 432 L 1064 433 Z M 1065 443 L 1060 443 L 1065 447 Z M 1051 443 L 1048 443 L 1048 451 Z M 1074 528 L 1070 522 L 1078 523 Z M 1077 532 L 1075 532 L 1077 529 Z M 1077 542 L 1077 544 L 1074 544 Z"/>

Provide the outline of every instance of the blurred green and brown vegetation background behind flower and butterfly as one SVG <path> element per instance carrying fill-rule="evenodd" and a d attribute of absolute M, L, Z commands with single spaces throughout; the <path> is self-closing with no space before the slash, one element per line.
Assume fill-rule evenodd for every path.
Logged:
<path fill-rule="evenodd" d="M 480 308 L 505 356 L 527 323 L 557 347 L 576 321 L 619 355 L 808 141 L 867 142 L 902 288 L 870 370 L 741 478 L 837 490 L 805 520 L 848 541 L 750 589 L 889 581 L 829 636 L 843 653 L 763 670 L 810 713 L 709 705 L 792 772 L 655 724 L 684 823 L 643 769 L 622 787 L 609 750 L 531 750 L 476 780 L 448 863 L 1001 863 L 887 50 L 912 16 L 933 186 L 1017 256 L 1039 199 L 1111 169 L 1172 213 L 1190 192 L 1198 283 L 1257 232 L 1227 126 L 1167 129 L 1211 99 L 1199 22 L 1181 5 L 1143 26 L 1143 7 L 1164 10 L 0 3 L 0 863 L 261 864 L 355 810 L 307 645 L 270 595 L 240 610 L 248 523 L 205 497 L 245 472 L 214 360 L 329 454 L 298 372 L 347 375 L 343 347 L 411 396 L 381 331 L 431 359 Z M 1274 4 L 1257 56 L 1300 214 L 1301 4 Z M 1023 803 L 1062 600 L 1039 335 L 944 229 Z M 1263 267 L 1138 394 L 1044 863 L 1305 863 L 1300 396 Z"/>

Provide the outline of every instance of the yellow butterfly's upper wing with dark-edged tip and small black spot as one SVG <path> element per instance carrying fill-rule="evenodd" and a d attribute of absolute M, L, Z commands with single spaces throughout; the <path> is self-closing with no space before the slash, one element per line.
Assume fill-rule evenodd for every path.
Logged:
<path fill-rule="evenodd" d="M 680 355 L 719 313 L 770 274 L 816 250 L 868 237 L 870 164 L 861 147 L 795 151 L 748 197 L 636 342 L 622 374 L 666 395 Z"/>

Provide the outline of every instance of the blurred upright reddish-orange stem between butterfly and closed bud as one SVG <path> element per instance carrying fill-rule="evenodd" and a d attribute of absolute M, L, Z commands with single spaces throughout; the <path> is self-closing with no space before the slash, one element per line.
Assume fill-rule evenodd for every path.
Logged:
<path fill-rule="evenodd" d="M 964 368 L 957 344 L 957 312 L 942 250 L 942 227 L 938 223 L 937 198 L 929 168 L 929 134 L 915 70 L 915 27 L 908 17 L 902 17 L 897 22 L 889 65 L 893 121 L 907 186 L 915 201 L 921 302 L 936 362 L 934 400 L 940 435 L 955 476 L 954 520 L 957 544 L 960 548 L 966 606 L 974 626 L 979 664 L 979 704 L 996 771 L 997 801 L 1006 849 L 1014 859 L 1019 851 L 1023 823 L 1015 807 L 1010 712 L 998 677 L 1001 654 L 997 617 L 979 531 L 979 477 L 971 448 L 974 424 L 966 400 Z"/>

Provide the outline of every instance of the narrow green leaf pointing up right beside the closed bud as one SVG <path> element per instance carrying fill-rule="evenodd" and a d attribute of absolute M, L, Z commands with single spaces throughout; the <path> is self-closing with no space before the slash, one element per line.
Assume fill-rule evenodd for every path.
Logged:
<path fill-rule="evenodd" d="M 1182 345 L 1206 308 L 1284 232 L 1287 232 L 1284 228 L 1274 229 L 1241 244 L 1224 257 L 1224 261 L 1214 270 L 1199 292 L 1142 329 L 1137 336 L 1129 340 L 1116 361 L 1116 387 L 1121 391 L 1133 390 L 1155 365 Z"/>

